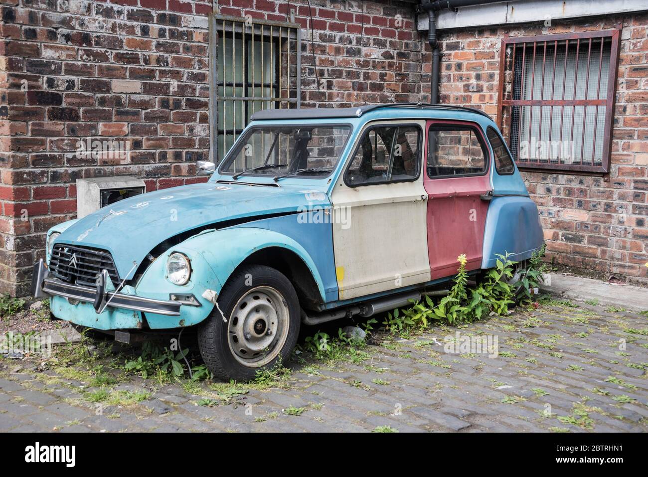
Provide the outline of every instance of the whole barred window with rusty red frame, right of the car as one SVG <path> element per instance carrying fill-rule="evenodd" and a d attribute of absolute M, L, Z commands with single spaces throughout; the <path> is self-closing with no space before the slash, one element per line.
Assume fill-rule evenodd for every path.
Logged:
<path fill-rule="evenodd" d="M 620 33 L 502 40 L 498 124 L 518 167 L 609 172 Z"/>

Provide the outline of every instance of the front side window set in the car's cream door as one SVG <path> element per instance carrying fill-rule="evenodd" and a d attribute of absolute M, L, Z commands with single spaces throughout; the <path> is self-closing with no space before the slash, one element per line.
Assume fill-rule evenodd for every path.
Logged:
<path fill-rule="evenodd" d="M 347 185 L 415 180 L 419 176 L 418 126 L 376 126 L 364 132 L 345 172 Z"/>

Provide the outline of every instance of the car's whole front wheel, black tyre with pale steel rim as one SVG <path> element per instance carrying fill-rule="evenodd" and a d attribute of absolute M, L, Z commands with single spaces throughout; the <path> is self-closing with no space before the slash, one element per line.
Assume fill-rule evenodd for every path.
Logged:
<path fill-rule="evenodd" d="M 198 328 L 200 354 L 216 377 L 249 381 L 259 369 L 288 360 L 299 324 L 290 281 L 274 268 L 251 265 L 227 281 L 218 307 Z"/>

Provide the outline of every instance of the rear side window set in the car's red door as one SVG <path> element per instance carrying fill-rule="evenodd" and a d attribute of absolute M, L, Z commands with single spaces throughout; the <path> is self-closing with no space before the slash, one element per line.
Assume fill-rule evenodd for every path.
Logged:
<path fill-rule="evenodd" d="M 481 176 L 488 169 L 488 157 L 481 135 L 474 126 L 430 126 L 427 158 L 430 178 Z"/>

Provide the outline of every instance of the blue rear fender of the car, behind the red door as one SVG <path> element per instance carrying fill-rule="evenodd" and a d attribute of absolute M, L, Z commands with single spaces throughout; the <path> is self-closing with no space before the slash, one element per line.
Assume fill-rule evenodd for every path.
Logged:
<path fill-rule="evenodd" d="M 494 267 L 498 253 L 511 253 L 513 261 L 526 260 L 543 240 L 538 207 L 531 198 L 493 197 L 486 216 L 481 268 Z"/>

